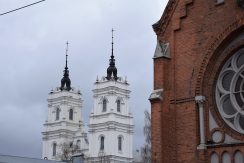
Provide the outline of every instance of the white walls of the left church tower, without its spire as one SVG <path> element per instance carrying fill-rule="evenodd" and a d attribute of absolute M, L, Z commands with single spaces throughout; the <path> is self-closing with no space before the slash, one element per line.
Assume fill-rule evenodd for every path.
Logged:
<path fill-rule="evenodd" d="M 81 149 L 87 149 L 88 144 L 82 139 L 83 121 L 81 118 L 82 99 L 81 93 L 77 90 L 61 91 L 57 88 L 51 91 L 48 96 L 48 116 L 44 123 L 43 154 L 42 158 L 49 160 L 60 160 L 61 145 L 81 140 Z M 59 119 L 56 119 L 56 110 L 60 109 Z M 73 120 L 69 119 L 69 111 L 73 109 Z M 53 143 L 57 144 L 56 156 L 53 156 Z"/>

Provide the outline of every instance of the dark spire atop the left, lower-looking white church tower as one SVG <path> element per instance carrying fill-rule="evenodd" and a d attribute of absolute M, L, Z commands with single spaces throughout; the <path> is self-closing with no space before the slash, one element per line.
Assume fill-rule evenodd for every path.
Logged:
<path fill-rule="evenodd" d="M 61 80 L 61 90 L 71 90 L 70 84 L 71 84 L 71 80 L 69 79 L 69 70 L 68 70 L 68 47 L 69 47 L 69 43 L 66 43 L 67 47 L 66 47 L 66 64 L 65 64 L 65 68 L 64 68 L 64 76 Z M 66 85 L 66 87 L 65 87 Z"/>

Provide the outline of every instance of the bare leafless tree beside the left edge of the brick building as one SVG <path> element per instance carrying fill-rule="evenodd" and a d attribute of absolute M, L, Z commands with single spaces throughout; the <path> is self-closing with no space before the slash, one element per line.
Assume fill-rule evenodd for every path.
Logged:
<path fill-rule="evenodd" d="M 151 114 L 148 110 L 145 110 L 144 114 L 145 126 L 143 128 L 143 133 L 145 136 L 145 144 L 141 148 L 141 156 L 143 163 L 151 163 Z"/>

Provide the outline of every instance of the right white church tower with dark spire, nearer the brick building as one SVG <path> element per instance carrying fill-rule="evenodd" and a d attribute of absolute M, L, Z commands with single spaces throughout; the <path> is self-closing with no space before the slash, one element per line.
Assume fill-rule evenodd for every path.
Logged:
<path fill-rule="evenodd" d="M 132 162 L 133 117 L 129 110 L 129 84 L 117 76 L 113 54 L 107 76 L 97 78 L 89 123 L 89 154 L 94 162 Z"/>

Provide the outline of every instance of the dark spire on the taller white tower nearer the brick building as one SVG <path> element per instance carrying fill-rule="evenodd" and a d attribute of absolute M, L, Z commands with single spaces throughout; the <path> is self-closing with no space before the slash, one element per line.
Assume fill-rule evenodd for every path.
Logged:
<path fill-rule="evenodd" d="M 107 68 L 107 80 L 117 80 L 117 68 L 115 67 L 115 59 L 114 59 L 114 29 L 112 29 L 112 53 L 111 58 L 109 60 L 109 67 Z"/>

